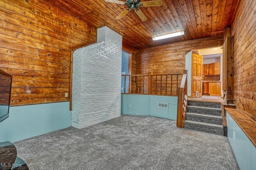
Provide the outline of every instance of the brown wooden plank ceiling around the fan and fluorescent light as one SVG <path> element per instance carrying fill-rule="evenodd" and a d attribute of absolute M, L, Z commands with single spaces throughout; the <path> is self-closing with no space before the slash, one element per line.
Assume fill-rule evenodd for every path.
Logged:
<path fill-rule="evenodd" d="M 140 7 L 148 20 L 142 22 L 134 10 L 117 20 L 127 7 L 105 0 L 38 0 L 84 20 L 95 28 L 108 26 L 136 49 L 223 34 L 230 26 L 238 0 L 162 0 L 157 7 Z M 121 0 L 125 1 L 125 0 Z M 148 0 L 141 0 L 148 1 Z M 185 31 L 184 36 L 153 41 L 152 37 Z"/>

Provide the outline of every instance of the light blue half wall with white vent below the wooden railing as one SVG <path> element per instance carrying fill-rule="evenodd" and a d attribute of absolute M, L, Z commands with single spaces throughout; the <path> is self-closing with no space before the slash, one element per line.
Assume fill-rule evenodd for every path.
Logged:
<path fill-rule="evenodd" d="M 158 109 L 158 102 L 168 103 L 168 108 Z M 154 116 L 166 119 L 177 119 L 177 102 L 175 96 L 157 95 L 121 95 L 121 114 Z M 131 106 L 129 108 L 129 105 Z"/>

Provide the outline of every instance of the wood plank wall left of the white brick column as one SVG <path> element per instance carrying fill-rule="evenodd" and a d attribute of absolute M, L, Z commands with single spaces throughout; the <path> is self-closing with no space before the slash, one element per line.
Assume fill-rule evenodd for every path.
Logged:
<path fill-rule="evenodd" d="M 38 0 L 0 0 L 0 18 L 11 105 L 69 101 L 71 49 L 96 42 L 96 29 Z"/>

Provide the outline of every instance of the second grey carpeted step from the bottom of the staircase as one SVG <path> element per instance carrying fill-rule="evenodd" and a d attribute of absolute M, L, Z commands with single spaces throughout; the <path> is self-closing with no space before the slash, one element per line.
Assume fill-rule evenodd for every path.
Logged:
<path fill-rule="evenodd" d="M 222 125 L 221 116 L 203 115 L 199 113 L 186 113 L 186 120 L 202 122 L 202 123 L 211 123 L 215 125 Z"/>

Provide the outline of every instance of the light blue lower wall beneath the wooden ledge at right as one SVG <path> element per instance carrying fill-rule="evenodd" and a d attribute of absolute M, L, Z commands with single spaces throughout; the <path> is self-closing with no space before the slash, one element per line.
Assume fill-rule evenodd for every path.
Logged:
<path fill-rule="evenodd" d="M 226 112 L 228 124 L 228 140 L 236 156 L 240 170 L 256 170 L 256 147 Z"/>

